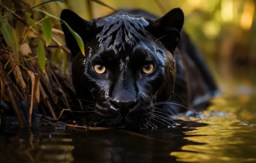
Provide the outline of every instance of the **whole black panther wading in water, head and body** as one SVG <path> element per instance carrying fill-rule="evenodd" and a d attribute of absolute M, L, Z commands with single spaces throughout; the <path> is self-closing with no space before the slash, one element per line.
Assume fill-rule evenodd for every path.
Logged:
<path fill-rule="evenodd" d="M 183 30 L 180 8 L 160 18 L 121 9 L 92 20 L 64 9 L 61 19 L 85 44 L 83 56 L 61 24 L 73 56 L 76 95 L 90 107 L 85 125 L 171 126 L 169 115 L 205 109 L 218 91 L 203 56 Z"/>

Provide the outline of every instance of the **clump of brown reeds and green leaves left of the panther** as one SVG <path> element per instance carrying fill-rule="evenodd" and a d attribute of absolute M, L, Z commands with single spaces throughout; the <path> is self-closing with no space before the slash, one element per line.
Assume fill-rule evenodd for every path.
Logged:
<path fill-rule="evenodd" d="M 60 18 L 40 9 L 47 3 L 64 3 L 63 0 L 47 0 L 39 5 L 24 1 L 1 2 L 0 77 L 1 100 L 11 101 L 19 125 L 25 126 L 17 98 L 30 101 L 29 125 L 33 106 L 43 101 L 43 112 L 58 119 L 62 109 L 70 109 L 75 91 L 68 66 L 70 50 L 56 36 L 63 32 L 54 28 L 64 23 L 84 52 L 81 37 Z M 15 8 L 15 9 L 14 9 Z M 60 68 L 62 67 L 62 68 Z"/>

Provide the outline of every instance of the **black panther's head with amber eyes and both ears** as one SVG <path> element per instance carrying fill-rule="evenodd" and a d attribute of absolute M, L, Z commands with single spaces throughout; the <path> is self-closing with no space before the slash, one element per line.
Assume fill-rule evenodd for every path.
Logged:
<path fill-rule="evenodd" d="M 170 99 L 176 78 L 174 51 L 184 15 L 171 9 L 161 18 L 117 12 L 85 20 L 64 9 L 61 19 L 81 36 L 82 55 L 62 23 L 74 59 L 73 85 L 79 99 L 94 104 L 94 122 L 107 127 L 141 127 L 154 123 L 154 103 Z"/>

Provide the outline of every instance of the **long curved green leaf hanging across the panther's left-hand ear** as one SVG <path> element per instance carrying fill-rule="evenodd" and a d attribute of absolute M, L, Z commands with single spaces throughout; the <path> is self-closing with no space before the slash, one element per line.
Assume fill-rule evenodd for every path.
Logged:
<path fill-rule="evenodd" d="M 72 30 L 72 28 L 67 24 L 66 21 L 63 21 L 63 20 L 61 20 L 60 18 L 58 18 L 58 17 L 56 17 L 56 16 L 54 16 L 54 15 L 52 15 L 52 14 L 49 14 L 48 12 L 45 12 L 45 11 L 43 11 L 43 10 L 41 10 L 41 9 L 37 9 L 37 10 L 40 11 L 40 12 L 45 13 L 45 14 L 48 15 L 48 16 L 51 16 L 52 18 L 55 18 L 55 19 L 58 19 L 58 20 L 62 21 L 62 22 L 67 26 L 68 30 L 69 30 L 69 31 L 73 34 L 73 36 L 75 37 L 76 42 L 77 42 L 77 44 L 78 44 L 78 46 L 79 46 L 79 48 L 80 48 L 80 50 L 81 50 L 83 56 L 85 56 L 85 46 L 84 46 L 84 42 L 82 41 L 82 38 L 79 36 L 78 33 L 76 33 L 75 31 Z"/>

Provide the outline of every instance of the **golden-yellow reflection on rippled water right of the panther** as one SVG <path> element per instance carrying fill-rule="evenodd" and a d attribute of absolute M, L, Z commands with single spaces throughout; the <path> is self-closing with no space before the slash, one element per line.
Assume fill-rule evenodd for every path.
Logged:
<path fill-rule="evenodd" d="M 208 125 L 184 133 L 190 135 L 184 139 L 202 144 L 185 145 L 182 151 L 170 155 L 182 162 L 255 163 L 256 115 L 253 104 L 256 97 L 252 95 L 247 103 L 241 103 L 239 99 L 241 97 L 233 95 L 226 100 L 223 97 L 213 100 L 213 106 L 203 113 L 206 117 L 202 118 L 203 122 Z M 222 110 L 221 114 L 207 117 L 210 112 L 219 110 Z"/>

